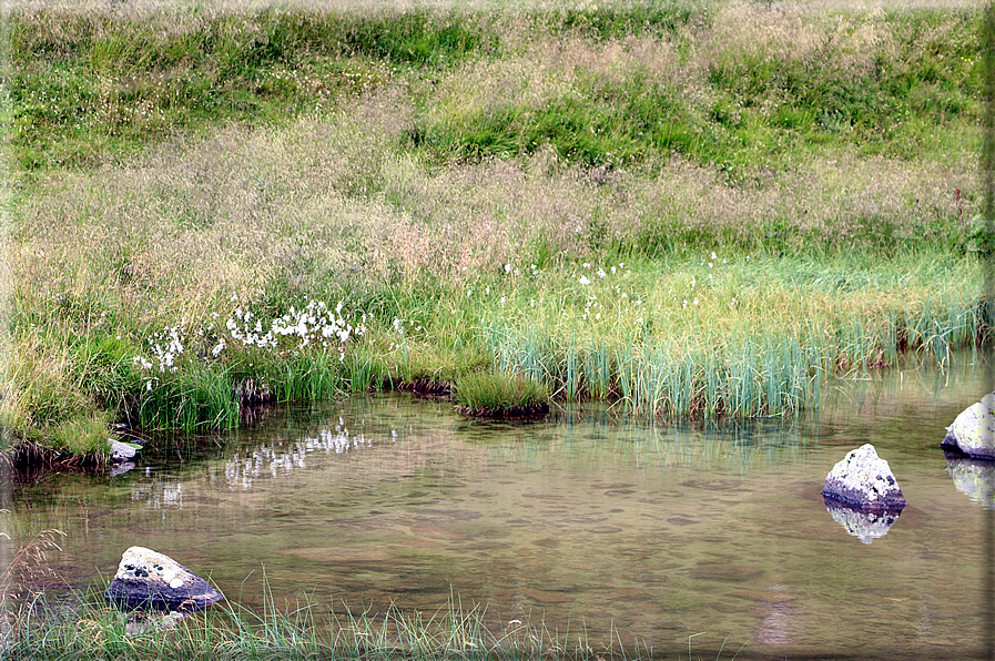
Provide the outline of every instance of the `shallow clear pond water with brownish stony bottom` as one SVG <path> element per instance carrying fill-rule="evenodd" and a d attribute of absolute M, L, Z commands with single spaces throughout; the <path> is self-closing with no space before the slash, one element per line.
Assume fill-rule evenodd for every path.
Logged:
<path fill-rule="evenodd" d="M 258 609 L 265 573 L 277 603 L 434 612 L 457 596 L 666 658 L 699 633 L 703 658 L 723 641 L 722 658 L 966 658 L 985 510 L 957 487 L 992 475 L 955 484 L 938 444 L 984 372 L 896 369 L 835 384 L 818 415 L 718 427 L 603 406 L 481 423 L 403 395 L 292 406 L 192 449 L 156 440 L 116 477 L 17 486 L 6 522 L 68 532 L 53 560 L 77 586 L 140 545 Z M 862 540 L 820 490 L 864 443 L 910 505 Z"/>

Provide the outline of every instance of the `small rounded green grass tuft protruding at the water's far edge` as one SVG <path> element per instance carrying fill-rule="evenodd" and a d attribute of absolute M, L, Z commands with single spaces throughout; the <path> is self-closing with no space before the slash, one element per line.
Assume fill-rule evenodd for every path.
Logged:
<path fill-rule="evenodd" d="M 454 389 L 457 405 L 468 415 L 517 417 L 549 410 L 546 387 L 520 374 L 467 374 Z"/>

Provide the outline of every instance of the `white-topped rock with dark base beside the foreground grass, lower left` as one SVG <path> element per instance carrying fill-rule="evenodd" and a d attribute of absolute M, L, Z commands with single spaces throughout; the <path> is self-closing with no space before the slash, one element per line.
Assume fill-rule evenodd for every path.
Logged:
<path fill-rule="evenodd" d="M 169 556 L 143 547 L 124 551 L 104 597 L 123 610 L 180 613 L 203 610 L 224 599 L 207 581 Z"/>

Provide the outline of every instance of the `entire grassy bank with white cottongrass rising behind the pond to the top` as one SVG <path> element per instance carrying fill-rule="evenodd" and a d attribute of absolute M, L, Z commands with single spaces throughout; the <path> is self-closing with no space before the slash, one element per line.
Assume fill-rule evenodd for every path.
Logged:
<path fill-rule="evenodd" d="M 16 9 L 7 456 L 481 372 L 782 415 L 944 362 L 986 333 L 978 20 Z"/>

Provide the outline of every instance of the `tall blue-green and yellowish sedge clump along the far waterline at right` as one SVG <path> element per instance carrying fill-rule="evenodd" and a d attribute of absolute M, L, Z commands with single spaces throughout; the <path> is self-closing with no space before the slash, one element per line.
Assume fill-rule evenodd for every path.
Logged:
<path fill-rule="evenodd" d="M 850 260 L 790 264 L 720 263 L 714 252 L 677 273 L 587 264 L 572 283 L 551 285 L 582 298 L 558 299 L 538 324 L 531 307 L 505 314 L 485 337 L 500 369 L 532 374 L 567 399 L 615 399 L 674 419 L 784 415 L 816 401 L 830 376 L 886 367 L 906 352 L 945 365 L 984 335 L 973 260 L 948 265 L 955 279 L 943 286 L 933 273 L 914 282 L 904 264 L 876 275 L 854 275 Z M 810 286 L 796 287 L 799 278 Z"/>

